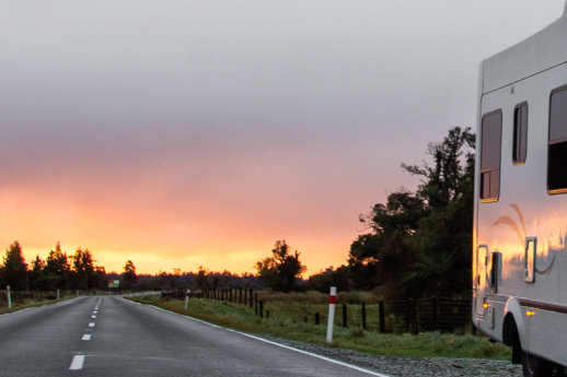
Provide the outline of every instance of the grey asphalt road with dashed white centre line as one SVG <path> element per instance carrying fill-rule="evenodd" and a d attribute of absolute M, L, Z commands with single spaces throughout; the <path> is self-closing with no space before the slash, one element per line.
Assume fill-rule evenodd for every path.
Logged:
<path fill-rule="evenodd" d="M 0 316 L 0 376 L 383 376 L 117 296 Z"/>

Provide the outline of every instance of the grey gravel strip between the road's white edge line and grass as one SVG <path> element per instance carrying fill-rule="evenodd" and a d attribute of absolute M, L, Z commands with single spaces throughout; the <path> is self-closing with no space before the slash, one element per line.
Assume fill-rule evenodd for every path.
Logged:
<path fill-rule="evenodd" d="M 357 351 L 333 349 L 316 344 L 302 343 L 266 334 L 254 334 L 271 342 L 292 346 L 302 351 L 334 358 L 391 377 L 404 376 L 507 376 L 522 377 L 521 365 L 484 358 L 450 357 L 393 357 L 373 355 Z"/>

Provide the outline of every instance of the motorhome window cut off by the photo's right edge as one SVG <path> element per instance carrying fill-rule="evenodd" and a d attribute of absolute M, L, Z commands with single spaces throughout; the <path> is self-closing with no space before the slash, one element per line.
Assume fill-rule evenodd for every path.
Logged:
<path fill-rule="evenodd" d="M 552 92 L 549 101 L 549 142 L 547 149 L 547 190 L 567 192 L 567 87 Z"/>

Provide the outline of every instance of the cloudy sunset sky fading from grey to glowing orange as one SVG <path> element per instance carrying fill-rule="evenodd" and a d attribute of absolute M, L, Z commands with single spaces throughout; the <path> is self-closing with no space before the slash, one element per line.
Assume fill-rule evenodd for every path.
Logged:
<path fill-rule="evenodd" d="M 346 263 L 475 127 L 478 64 L 565 0 L 1 1 L 0 247 L 253 272 L 278 239 Z"/>

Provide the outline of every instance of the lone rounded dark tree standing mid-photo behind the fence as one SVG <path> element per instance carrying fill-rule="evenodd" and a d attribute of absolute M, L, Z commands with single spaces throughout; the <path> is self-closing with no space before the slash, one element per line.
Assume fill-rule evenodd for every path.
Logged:
<path fill-rule="evenodd" d="M 274 291 L 289 292 L 296 287 L 296 278 L 306 271 L 299 261 L 300 254 L 289 254 L 286 240 L 277 240 L 271 250 L 273 257 L 256 262 L 258 280 Z"/>

